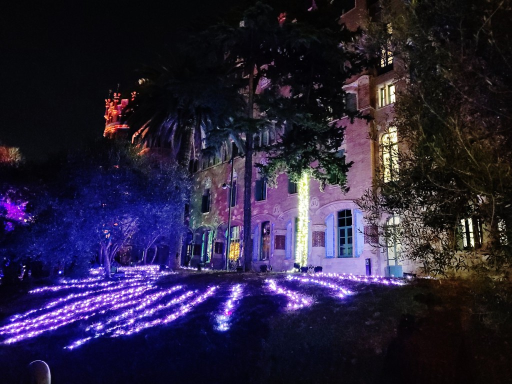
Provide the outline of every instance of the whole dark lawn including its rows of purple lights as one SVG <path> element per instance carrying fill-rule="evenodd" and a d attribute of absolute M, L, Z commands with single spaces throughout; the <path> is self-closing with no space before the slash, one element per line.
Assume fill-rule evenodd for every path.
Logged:
<path fill-rule="evenodd" d="M 125 270 L 0 290 L 0 382 L 510 382 L 510 300 L 467 281 Z M 501 304 L 500 304 L 501 303 Z"/>

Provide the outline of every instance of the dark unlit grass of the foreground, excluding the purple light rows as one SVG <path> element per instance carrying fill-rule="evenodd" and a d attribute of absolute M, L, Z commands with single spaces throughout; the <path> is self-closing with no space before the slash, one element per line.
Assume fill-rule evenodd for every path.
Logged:
<path fill-rule="evenodd" d="M 315 303 L 286 310 L 286 297 L 270 294 L 266 278 Z M 346 282 L 354 294 L 343 299 L 285 274 L 183 272 L 158 282 L 178 283 L 218 285 L 220 293 L 167 326 L 73 350 L 63 346 L 80 337 L 84 322 L 0 344 L 0 383 L 19 383 L 37 359 L 50 366 L 53 384 L 512 382 L 510 297 L 467 281 Z M 237 283 L 246 295 L 231 328 L 219 332 L 215 314 Z M 0 288 L 0 326 L 50 300 Z"/>

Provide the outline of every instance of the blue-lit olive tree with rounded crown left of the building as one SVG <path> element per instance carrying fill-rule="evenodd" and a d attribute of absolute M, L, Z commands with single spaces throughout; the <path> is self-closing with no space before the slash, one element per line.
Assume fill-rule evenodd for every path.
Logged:
<path fill-rule="evenodd" d="M 99 257 L 110 276 L 123 245 L 181 233 L 187 175 L 135 149 L 103 139 L 68 154 L 31 202 L 38 207 L 34 223 L 10 249 L 23 249 L 27 258 L 65 273 L 85 270 Z"/>

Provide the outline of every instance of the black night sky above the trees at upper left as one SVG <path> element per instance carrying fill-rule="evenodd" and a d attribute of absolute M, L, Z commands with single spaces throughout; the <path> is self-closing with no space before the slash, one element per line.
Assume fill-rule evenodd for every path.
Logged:
<path fill-rule="evenodd" d="M 109 90 L 240 2 L 21 3 L 0 12 L 0 142 L 40 159 L 101 136 Z"/>

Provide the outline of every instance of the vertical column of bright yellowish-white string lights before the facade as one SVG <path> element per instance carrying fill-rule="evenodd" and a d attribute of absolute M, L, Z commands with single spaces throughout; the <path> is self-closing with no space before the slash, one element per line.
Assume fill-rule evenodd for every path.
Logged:
<path fill-rule="evenodd" d="M 309 175 L 304 172 L 297 184 L 298 220 L 297 239 L 295 241 L 295 263 L 306 266 L 308 263 L 309 229 Z"/>

